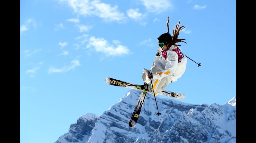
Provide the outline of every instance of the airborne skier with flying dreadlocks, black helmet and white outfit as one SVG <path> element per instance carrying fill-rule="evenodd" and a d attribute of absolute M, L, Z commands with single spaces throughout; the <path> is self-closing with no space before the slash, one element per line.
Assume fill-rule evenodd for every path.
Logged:
<path fill-rule="evenodd" d="M 184 42 L 181 40 L 185 39 L 177 39 L 179 31 L 183 29 L 183 26 L 178 27 L 176 25 L 175 31 L 173 30 L 173 36 L 171 36 L 167 23 L 167 33 L 157 38 L 159 47 L 152 67 L 150 70 L 143 69 L 142 79 L 144 85 L 137 85 L 137 88 L 151 93 L 153 93 L 152 89 L 154 89 L 156 95 L 157 92 L 164 91 L 168 84 L 177 81 L 184 74 L 187 58 L 179 49 L 180 45 L 177 42 Z"/>

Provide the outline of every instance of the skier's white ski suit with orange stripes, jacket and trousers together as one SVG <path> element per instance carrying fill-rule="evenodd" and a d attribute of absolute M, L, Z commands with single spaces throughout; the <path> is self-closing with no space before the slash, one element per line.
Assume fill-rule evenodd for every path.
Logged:
<path fill-rule="evenodd" d="M 179 46 L 177 47 L 179 48 Z M 166 59 L 162 57 L 162 55 L 155 57 L 153 65 L 150 68 L 150 70 L 153 71 L 153 87 L 150 79 L 147 77 L 147 73 L 150 70 L 146 68 L 143 69 L 142 79 L 144 83 L 150 85 L 150 92 L 152 92 L 151 89 L 154 88 L 155 95 L 157 92 L 165 90 L 166 86 L 172 81 L 177 81 L 185 72 L 187 58 L 184 54 L 183 56 L 180 54 L 181 51 L 179 51 L 177 47 L 172 45 L 171 48 L 166 51 Z"/>

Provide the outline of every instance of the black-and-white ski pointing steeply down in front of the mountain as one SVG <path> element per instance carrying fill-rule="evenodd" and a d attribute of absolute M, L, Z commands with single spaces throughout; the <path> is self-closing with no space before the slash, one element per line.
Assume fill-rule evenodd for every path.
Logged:
<path fill-rule="evenodd" d="M 133 128 L 137 124 L 139 113 L 141 111 L 141 108 L 143 106 L 144 100 L 146 99 L 147 91 L 141 91 L 141 94 L 139 96 L 137 105 L 133 111 L 133 114 L 131 116 L 131 119 L 129 121 L 129 127 Z"/>

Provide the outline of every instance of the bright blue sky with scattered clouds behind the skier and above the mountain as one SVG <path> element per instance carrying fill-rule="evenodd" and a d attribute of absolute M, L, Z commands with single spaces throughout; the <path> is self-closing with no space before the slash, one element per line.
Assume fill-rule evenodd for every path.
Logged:
<path fill-rule="evenodd" d="M 129 89 L 107 76 L 143 84 L 168 16 L 170 31 L 179 20 L 187 26 L 181 50 L 202 66 L 188 60 L 166 90 L 191 104 L 228 102 L 236 95 L 235 1 L 20 1 L 20 142 L 55 142 L 81 115 L 108 110 Z"/>

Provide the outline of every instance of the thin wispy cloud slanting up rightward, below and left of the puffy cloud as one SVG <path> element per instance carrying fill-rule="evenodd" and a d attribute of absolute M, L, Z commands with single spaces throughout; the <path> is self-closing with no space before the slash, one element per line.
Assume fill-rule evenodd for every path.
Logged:
<path fill-rule="evenodd" d="M 54 68 L 54 67 L 49 68 L 48 74 L 68 72 L 71 69 L 74 69 L 75 67 L 78 67 L 78 66 L 81 66 L 80 61 L 75 59 L 71 61 L 71 64 L 69 66 L 64 66 L 63 68 Z"/>

